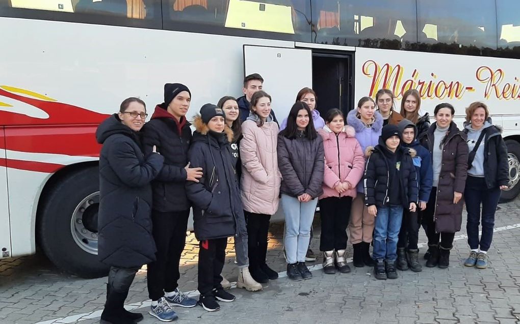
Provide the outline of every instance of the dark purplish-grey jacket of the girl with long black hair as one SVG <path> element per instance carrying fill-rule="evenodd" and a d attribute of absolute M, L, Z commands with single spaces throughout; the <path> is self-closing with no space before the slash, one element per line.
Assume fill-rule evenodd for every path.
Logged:
<path fill-rule="evenodd" d="M 323 193 L 325 153 L 323 138 L 307 139 L 300 132 L 294 139 L 278 135 L 278 168 L 282 174 L 280 192 L 297 197 L 308 193 L 313 199 Z"/>

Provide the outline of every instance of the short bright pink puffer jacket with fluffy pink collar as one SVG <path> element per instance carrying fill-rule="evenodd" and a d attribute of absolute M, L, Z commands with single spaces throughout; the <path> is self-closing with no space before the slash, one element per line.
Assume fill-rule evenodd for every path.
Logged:
<path fill-rule="evenodd" d="M 325 151 L 325 173 L 323 175 L 323 194 L 320 199 L 329 197 L 356 197 L 356 185 L 365 171 L 365 158 L 361 145 L 352 126 L 345 126 L 343 132 L 335 134 L 328 126 L 319 130 Z M 348 181 L 352 189 L 339 193 L 334 189 L 339 182 Z"/>

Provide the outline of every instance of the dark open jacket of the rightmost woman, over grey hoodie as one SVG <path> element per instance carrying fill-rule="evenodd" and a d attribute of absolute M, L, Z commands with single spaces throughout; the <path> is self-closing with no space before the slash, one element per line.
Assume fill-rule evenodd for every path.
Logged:
<path fill-rule="evenodd" d="M 484 129 L 484 179 L 488 189 L 509 184 L 508 147 L 497 126 Z M 467 130 L 462 131 L 467 134 Z M 482 145 L 482 144 L 481 144 Z M 470 167 L 470 166 L 468 166 Z"/>

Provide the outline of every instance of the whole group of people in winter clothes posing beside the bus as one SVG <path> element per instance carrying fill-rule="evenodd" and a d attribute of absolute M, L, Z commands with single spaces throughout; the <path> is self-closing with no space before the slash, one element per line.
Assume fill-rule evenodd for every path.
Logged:
<path fill-rule="evenodd" d="M 448 103 L 435 107 L 430 125 L 416 90 L 404 93 L 400 112 L 393 92 L 382 89 L 375 101 L 361 98 L 346 118 L 330 109 L 323 119 L 316 93 L 303 88 L 279 126 L 263 81 L 258 74 L 246 76 L 244 96 L 205 104 L 191 122 L 190 90 L 167 83 L 164 102 L 146 124 L 146 105 L 135 97 L 101 123 L 98 253 L 110 265 L 101 322 L 142 319 L 123 305 L 143 264 L 149 314 L 162 321 L 177 319 L 172 306 L 217 311 L 218 302 L 232 302 L 221 275 L 231 236 L 237 287 L 262 290 L 278 278 L 266 261 L 269 221 L 279 202 L 291 280 L 312 277 L 305 260 L 318 204 L 327 274 L 351 271 L 348 237 L 354 266 L 373 266 L 378 279 L 397 278 L 396 268 L 421 271 L 421 224 L 428 237 L 426 266 L 448 267 L 464 200 L 471 250 L 465 265 L 487 266 L 508 165 L 484 103 L 466 109 L 460 131 Z M 198 301 L 178 287 L 191 208 L 199 241 Z"/>

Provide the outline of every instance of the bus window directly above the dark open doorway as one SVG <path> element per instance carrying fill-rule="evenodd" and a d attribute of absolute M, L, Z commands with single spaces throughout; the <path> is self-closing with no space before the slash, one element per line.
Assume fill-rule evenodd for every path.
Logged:
<path fill-rule="evenodd" d="M 316 43 L 400 49 L 417 41 L 413 0 L 311 3 Z"/>

